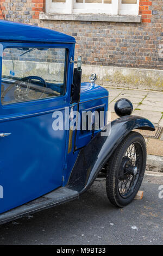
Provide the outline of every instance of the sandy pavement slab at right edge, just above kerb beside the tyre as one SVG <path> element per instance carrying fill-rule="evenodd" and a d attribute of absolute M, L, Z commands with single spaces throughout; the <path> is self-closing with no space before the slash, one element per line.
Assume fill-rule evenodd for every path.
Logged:
<path fill-rule="evenodd" d="M 149 139 L 147 153 L 156 156 L 163 156 L 163 141 L 160 139 Z"/>

